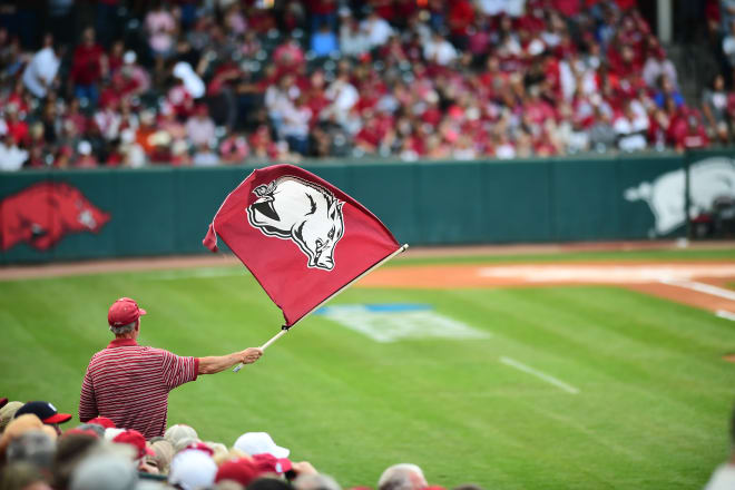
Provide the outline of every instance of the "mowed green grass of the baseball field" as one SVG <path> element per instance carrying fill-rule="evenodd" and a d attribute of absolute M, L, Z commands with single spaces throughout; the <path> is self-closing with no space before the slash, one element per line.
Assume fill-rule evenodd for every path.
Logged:
<path fill-rule="evenodd" d="M 578 255 L 531 258 L 631 258 Z M 735 252 L 643 255 L 733 259 Z M 441 261 L 395 266 L 421 262 Z M 148 310 L 140 342 L 182 355 L 259 345 L 278 331 L 280 311 L 251 276 L 206 271 L 0 282 L 0 395 L 47 399 L 76 414 L 87 362 L 110 339 L 107 308 L 122 295 Z M 174 391 L 169 423 L 227 444 L 267 431 L 292 459 L 312 461 L 345 487 L 374 487 L 389 464 L 414 462 L 445 487 L 690 489 L 728 452 L 735 364 L 721 356 L 735 351 L 731 321 L 600 286 L 355 287 L 333 302 L 374 303 L 430 304 L 491 336 L 378 343 L 312 316 L 255 365 Z"/>

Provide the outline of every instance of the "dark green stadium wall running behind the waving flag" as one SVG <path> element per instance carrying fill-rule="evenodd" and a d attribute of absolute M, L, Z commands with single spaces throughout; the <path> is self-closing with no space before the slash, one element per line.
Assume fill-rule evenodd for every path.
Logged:
<path fill-rule="evenodd" d="M 373 210 L 400 242 L 539 243 L 684 236 L 685 169 L 713 158 L 732 163 L 729 156 L 700 153 L 472 163 L 361 161 L 305 168 Z M 0 174 L 0 263 L 205 253 L 202 238 L 208 223 L 227 193 L 252 169 Z M 40 218 L 38 209 L 26 216 L 28 208 L 39 206 L 23 200 L 30 195 L 28 189 L 43 182 L 79 189 L 91 205 L 109 215 L 109 220 L 98 233 L 66 233 L 68 218 L 59 225 L 58 215 L 70 204 L 59 203 L 56 196 L 41 206 Z M 65 229 L 59 232 L 59 226 Z M 28 227 L 32 228 L 30 238 Z M 55 245 L 43 246 L 41 238 L 50 233 L 61 236 Z"/>

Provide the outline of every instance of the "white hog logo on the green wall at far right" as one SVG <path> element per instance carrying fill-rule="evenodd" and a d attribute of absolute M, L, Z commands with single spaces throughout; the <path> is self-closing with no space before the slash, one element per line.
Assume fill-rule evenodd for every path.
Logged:
<path fill-rule="evenodd" d="M 657 235 L 665 235 L 686 223 L 686 173 L 678 169 L 627 189 L 625 198 L 645 200 L 656 218 Z M 689 166 L 689 217 L 712 210 L 717 197 L 735 196 L 735 161 L 713 157 Z"/>

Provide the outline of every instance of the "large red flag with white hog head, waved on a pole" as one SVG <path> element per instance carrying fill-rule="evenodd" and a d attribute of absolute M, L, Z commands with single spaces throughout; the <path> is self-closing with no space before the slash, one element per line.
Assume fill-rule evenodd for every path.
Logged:
<path fill-rule="evenodd" d="M 219 207 L 204 238 L 237 255 L 288 327 L 395 253 L 391 232 L 363 205 L 293 165 L 254 170 Z"/>

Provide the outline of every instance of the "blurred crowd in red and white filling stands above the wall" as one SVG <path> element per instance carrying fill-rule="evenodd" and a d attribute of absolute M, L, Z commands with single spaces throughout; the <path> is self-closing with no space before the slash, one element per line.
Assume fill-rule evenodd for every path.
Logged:
<path fill-rule="evenodd" d="M 0 10 L 6 170 L 502 159 L 733 137 L 732 76 L 686 104 L 637 0 L 27 3 Z M 735 3 L 702 3 L 735 65 Z"/>

